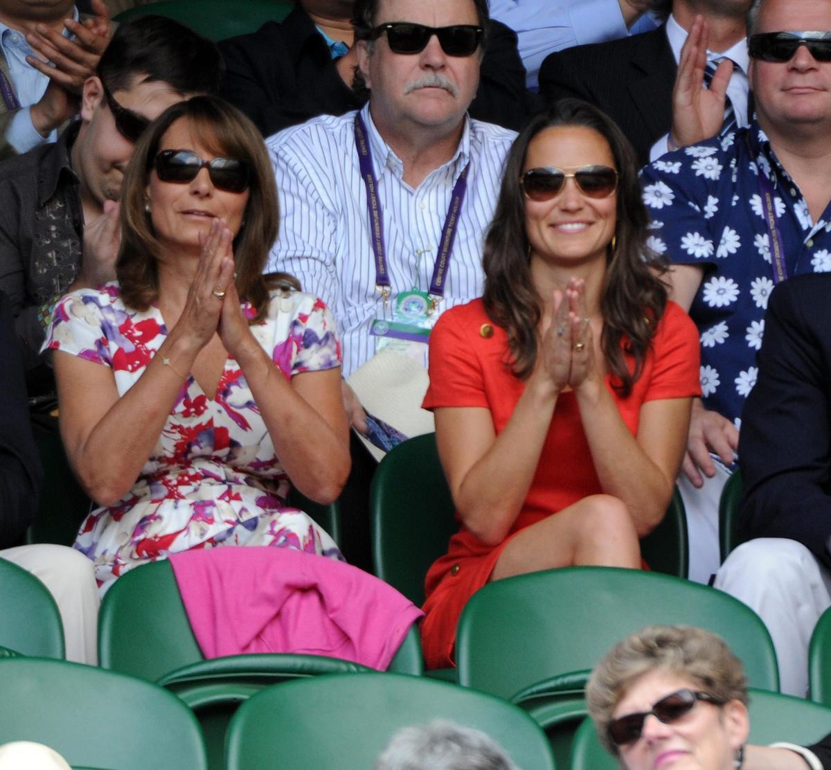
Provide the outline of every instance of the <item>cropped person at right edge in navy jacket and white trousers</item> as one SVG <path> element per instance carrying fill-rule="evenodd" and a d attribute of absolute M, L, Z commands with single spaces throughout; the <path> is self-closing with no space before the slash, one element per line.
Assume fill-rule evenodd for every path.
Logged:
<path fill-rule="evenodd" d="M 789 278 L 770 295 L 739 442 L 739 534 L 749 542 L 716 580 L 763 612 L 779 660 L 804 678 L 811 633 L 831 606 L 829 294 L 824 273 Z"/>

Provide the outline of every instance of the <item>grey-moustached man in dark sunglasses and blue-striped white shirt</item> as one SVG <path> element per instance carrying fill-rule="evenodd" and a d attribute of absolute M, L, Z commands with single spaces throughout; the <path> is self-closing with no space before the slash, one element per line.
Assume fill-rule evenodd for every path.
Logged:
<path fill-rule="evenodd" d="M 515 136 L 467 115 L 488 22 L 486 0 L 357 0 L 368 104 L 267 140 L 282 217 L 269 268 L 332 308 L 346 377 L 408 312 L 423 342 L 390 344 L 426 365 L 435 319 L 482 292 L 484 231 Z M 347 385 L 344 399 L 366 433 Z"/>

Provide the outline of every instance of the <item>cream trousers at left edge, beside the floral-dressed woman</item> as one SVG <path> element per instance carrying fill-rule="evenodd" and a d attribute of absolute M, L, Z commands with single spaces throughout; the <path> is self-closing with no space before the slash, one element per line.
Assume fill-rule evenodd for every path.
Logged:
<path fill-rule="evenodd" d="M 80 551 L 42 543 L 0 551 L 47 586 L 61 613 L 66 660 L 98 664 L 98 587 L 93 564 Z"/>

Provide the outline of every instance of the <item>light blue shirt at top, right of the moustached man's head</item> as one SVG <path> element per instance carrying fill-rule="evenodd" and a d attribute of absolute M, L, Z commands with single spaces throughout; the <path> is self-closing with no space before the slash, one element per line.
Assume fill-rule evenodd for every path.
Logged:
<path fill-rule="evenodd" d="M 490 0 L 490 17 L 517 33 L 531 91 L 538 90 L 539 67 L 549 53 L 629 34 L 617 0 Z M 647 15 L 632 25 L 632 32 L 655 27 Z"/>

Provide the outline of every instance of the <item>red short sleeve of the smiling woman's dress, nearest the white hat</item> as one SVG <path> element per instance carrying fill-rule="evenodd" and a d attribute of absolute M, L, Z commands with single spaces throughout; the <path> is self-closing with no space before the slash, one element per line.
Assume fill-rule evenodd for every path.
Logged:
<path fill-rule="evenodd" d="M 442 314 L 430 333 L 430 387 L 424 409 L 436 406 L 484 406 L 482 366 L 471 328 L 479 328 L 470 305 L 450 308 Z"/>

